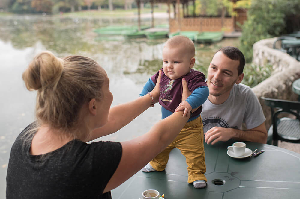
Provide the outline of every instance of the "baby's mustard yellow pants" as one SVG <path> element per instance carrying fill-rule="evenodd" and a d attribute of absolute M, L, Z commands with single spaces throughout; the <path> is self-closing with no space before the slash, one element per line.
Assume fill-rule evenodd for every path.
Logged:
<path fill-rule="evenodd" d="M 187 122 L 173 142 L 163 152 L 158 154 L 150 162 L 150 165 L 156 171 L 163 171 L 167 166 L 171 150 L 178 148 L 186 158 L 187 182 L 193 183 L 196 180 L 205 180 L 207 182 L 204 175 L 206 166 L 203 136 L 203 124 L 200 116 L 193 121 Z"/>

